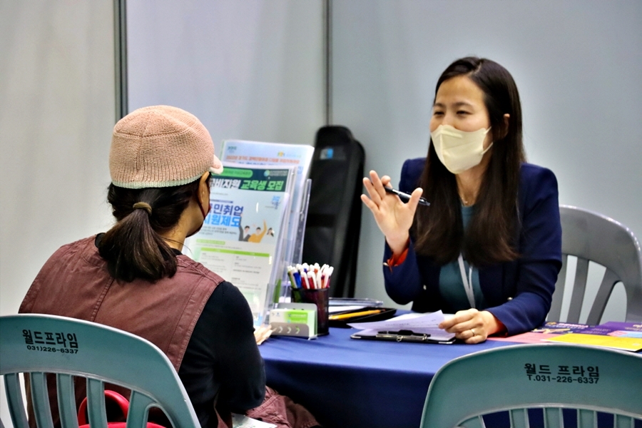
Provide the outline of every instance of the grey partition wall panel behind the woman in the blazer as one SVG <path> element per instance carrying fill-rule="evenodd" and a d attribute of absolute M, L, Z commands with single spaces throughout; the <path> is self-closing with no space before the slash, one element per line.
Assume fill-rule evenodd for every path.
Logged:
<path fill-rule="evenodd" d="M 636 0 L 334 1 L 332 118 L 362 141 L 366 169 L 396 185 L 403 161 L 427 153 L 439 74 L 491 58 L 516 80 L 529 161 L 556 173 L 560 203 L 642 238 L 641 23 Z M 357 295 L 391 303 L 383 243 L 364 210 Z M 605 317 L 622 320 L 616 290 Z"/>

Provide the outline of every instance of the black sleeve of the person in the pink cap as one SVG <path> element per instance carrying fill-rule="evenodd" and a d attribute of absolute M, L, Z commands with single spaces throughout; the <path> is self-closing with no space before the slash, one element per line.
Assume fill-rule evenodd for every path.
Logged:
<path fill-rule="evenodd" d="M 217 393 L 217 406 L 233 412 L 243 413 L 263 402 L 265 369 L 254 339 L 252 313 L 230 282 L 221 282 L 205 305 L 178 376 L 202 426 L 208 425 L 203 418 L 213 414 Z"/>

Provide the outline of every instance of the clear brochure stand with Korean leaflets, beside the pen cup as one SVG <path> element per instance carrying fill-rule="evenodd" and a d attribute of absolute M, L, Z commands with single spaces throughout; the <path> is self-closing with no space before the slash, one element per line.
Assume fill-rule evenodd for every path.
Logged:
<path fill-rule="evenodd" d="M 312 146 L 224 141 L 223 173 L 211 179 L 212 209 L 185 241 L 186 255 L 239 288 L 256 327 L 287 288 L 280 287 L 285 267 L 300 258 L 313 153 Z"/>

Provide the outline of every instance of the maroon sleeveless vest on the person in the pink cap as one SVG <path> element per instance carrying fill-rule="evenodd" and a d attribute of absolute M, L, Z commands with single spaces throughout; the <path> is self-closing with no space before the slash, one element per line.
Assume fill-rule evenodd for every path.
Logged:
<path fill-rule="evenodd" d="M 198 317 L 223 278 L 179 255 L 173 277 L 118 282 L 109 275 L 94 238 L 58 249 L 31 284 L 19 312 L 61 315 L 126 330 L 158 346 L 178 372 Z M 83 391 L 77 392 L 78 399 L 84 397 Z M 51 410 L 57 414 L 54 403 Z"/>

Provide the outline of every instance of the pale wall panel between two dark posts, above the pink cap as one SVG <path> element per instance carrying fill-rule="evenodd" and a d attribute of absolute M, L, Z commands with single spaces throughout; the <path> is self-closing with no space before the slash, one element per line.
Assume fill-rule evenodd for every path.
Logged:
<path fill-rule="evenodd" d="M 322 1 L 128 0 L 129 110 L 184 108 L 228 138 L 314 143 Z"/>

